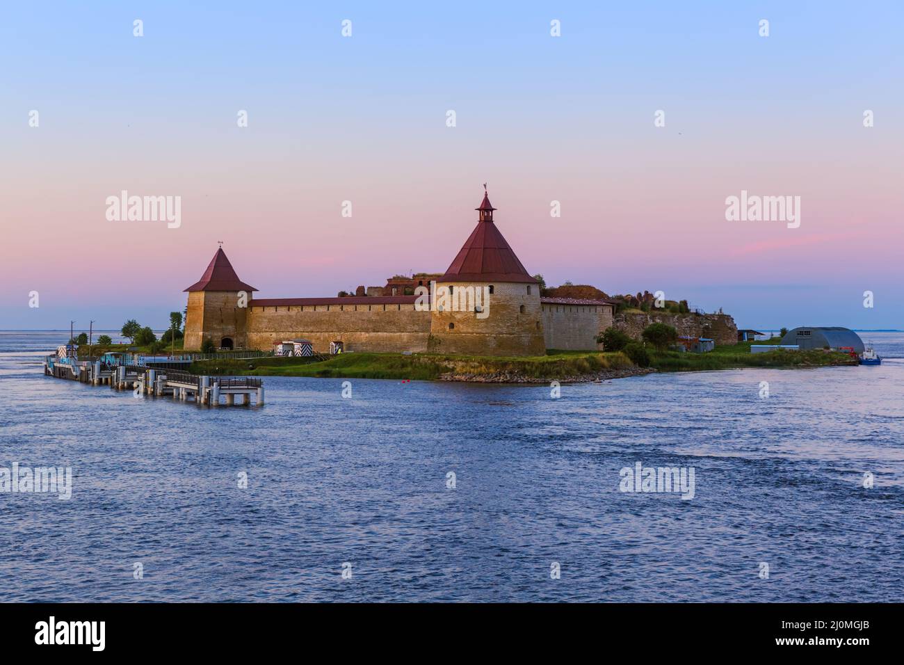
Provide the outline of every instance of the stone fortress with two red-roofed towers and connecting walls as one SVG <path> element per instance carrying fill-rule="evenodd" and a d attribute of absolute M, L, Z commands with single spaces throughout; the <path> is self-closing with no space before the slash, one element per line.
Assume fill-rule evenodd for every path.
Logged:
<path fill-rule="evenodd" d="M 612 325 L 615 304 L 542 298 L 540 284 L 496 226 L 495 210 L 484 194 L 477 225 L 447 271 L 431 275 L 429 283 L 418 280 L 406 295 L 257 298 L 220 248 L 201 280 L 186 289 L 185 348 L 201 348 L 209 339 L 220 348 L 269 350 L 284 339 L 304 338 L 319 353 L 328 353 L 334 341 L 346 352 L 472 356 L 598 349 L 596 338 Z"/>

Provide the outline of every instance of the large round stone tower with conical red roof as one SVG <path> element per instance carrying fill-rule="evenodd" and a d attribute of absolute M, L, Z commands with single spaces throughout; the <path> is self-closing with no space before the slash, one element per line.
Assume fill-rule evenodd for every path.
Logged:
<path fill-rule="evenodd" d="M 428 350 L 474 356 L 542 356 L 540 284 L 524 270 L 493 221 L 489 195 L 477 226 L 431 303 Z"/>

